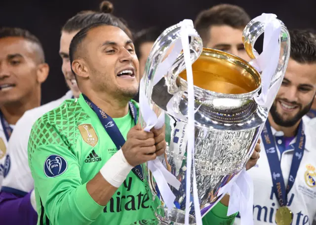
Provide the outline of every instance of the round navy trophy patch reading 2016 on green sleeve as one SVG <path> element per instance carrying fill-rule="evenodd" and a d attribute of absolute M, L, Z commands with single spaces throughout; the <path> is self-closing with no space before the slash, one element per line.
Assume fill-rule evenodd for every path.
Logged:
<path fill-rule="evenodd" d="M 67 169 L 67 161 L 58 155 L 50 155 L 44 163 L 44 173 L 47 177 L 57 177 Z"/>

